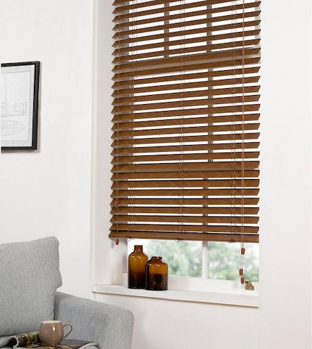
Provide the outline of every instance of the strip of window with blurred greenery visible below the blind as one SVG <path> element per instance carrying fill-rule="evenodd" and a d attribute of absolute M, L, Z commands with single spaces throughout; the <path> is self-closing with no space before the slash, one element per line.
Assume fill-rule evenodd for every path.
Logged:
<path fill-rule="evenodd" d="M 238 244 L 224 242 L 173 241 L 133 239 L 128 241 L 128 254 L 135 245 L 143 245 L 151 257 L 161 255 L 169 266 L 169 275 L 219 280 L 239 280 L 240 265 Z M 259 248 L 257 244 L 245 244 L 245 278 L 259 281 Z M 204 257 L 203 257 L 204 255 Z M 207 261 L 207 265 L 202 264 Z"/>

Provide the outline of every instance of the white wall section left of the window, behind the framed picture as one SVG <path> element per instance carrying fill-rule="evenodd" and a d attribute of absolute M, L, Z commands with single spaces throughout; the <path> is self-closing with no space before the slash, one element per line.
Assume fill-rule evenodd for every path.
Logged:
<path fill-rule="evenodd" d="M 40 60 L 39 150 L 0 155 L 0 243 L 55 235 L 63 290 L 89 296 L 93 3 L 1 0 L 0 62 Z"/>

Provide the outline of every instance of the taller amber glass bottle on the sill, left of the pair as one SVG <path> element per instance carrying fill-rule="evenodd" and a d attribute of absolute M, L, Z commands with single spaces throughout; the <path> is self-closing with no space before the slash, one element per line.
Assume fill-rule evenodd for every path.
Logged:
<path fill-rule="evenodd" d="M 145 289 L 145 264 L 148 256 L 143 246 L 135 245 L 135 250 L 128 257 L 128 288 Z"/>

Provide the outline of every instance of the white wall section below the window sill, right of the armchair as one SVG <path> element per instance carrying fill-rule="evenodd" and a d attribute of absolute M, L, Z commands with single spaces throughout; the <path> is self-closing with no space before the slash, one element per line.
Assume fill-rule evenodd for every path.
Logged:
<path fill-rule="evenodd" d="M 257 308 L 104 294 L 96 300 L 135 314 L 132 349 L 257 348 Z"/>

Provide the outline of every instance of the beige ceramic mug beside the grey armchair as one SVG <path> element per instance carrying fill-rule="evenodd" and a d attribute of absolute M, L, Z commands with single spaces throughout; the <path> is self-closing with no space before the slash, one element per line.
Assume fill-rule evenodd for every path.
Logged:
<path fill-rule="evenodd" d="M 71 329 L 64 336 L 64 327 L 66 326 L 71 327 Z M 60 344 L 72 330 L 73 327 L 71 325 L 63 325 L 62 321 L 42 321 L 39 329 L 39 338 L 45 346 L 55 346 L 55 344 Z"/>

